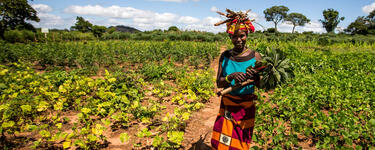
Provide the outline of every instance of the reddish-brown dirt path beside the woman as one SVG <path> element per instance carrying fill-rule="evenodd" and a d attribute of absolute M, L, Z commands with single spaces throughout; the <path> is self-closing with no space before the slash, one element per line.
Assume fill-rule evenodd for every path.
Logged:
<path fill-rule="evenodd" d="M 220 53 L 226 50 L 225 46 L 220 48 Z M 219 56 L 220 57 L 220 56 Z M 211 68 L 215 70 L 216 78 L 219 57 L 211 62 Z M 218 89 L 215 88 L 215 93 Z M 205 107 L 198 112 L 193 113 L 185 129 L 184 141 L 182 146 L 189 150 L 211 150 L 212 128 L 217 114 L 219 113 L 220 97 L 213 96 Z"/>

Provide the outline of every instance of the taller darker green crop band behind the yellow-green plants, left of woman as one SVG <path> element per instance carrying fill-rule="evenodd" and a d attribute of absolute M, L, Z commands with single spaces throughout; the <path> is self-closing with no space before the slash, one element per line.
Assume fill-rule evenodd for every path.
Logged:
<path fill-rule="evenodd" d="M 216 43 L 185 41 L 90 41 L 67 43 L 0 43 L 0 62 L 22 60 L 43 67 L 73 67 L 96 71 L 101 66 L 170 60 L 208 67 L 219 55 Z"/>

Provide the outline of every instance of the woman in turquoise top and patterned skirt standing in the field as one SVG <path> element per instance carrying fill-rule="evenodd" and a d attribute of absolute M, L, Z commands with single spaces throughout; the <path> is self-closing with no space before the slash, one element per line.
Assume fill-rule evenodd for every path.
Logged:
<path fill-rule="evenodd" d="M 254 27 L 248 20 L 237 19 L 227 23 L 227 32 L 234 45 L 220 56 L 217 87 L 227 88 L 248 79 L 259 85 L 259 75 L 254 69 L 261 60 L 258 52 L 246 47 L 248 32 Z M 255 118 L 254 83 L 222 96 L 220 111 L 216 118 L 211 144 L 213 149 L 249 149 Z"/>

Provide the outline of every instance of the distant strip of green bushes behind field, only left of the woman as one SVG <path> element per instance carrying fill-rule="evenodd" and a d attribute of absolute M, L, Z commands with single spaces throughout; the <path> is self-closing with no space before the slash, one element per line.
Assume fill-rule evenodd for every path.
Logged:
<path fill-rule="evenodd" d="M 82 40 L 154 40 L 154 41 L 223 41 L 227 38 L 226 33 L 210 33 L 195 31 L 145 31 L 145 32 L 106 32 L 103 35 L 94 36 L 91 32 L 79 31 L 50 31 L 45 38 L 44 33 L 31 32 L 27 30 L 9 30 L 5 32 L 5 40 L 11 43 L 45 42 L 54 41 L 82 41 Z"/>

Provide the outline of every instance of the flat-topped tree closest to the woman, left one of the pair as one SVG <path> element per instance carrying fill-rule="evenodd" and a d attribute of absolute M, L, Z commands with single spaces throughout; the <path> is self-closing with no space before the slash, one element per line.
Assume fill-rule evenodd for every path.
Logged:
<path fill-rule="evenodd" d="M 287 16 L 289 8 L 286 6 L 272 6 L 263 11 L 267 21 L 272 21 L 275 24 L 275 30 L 277 32 L 277 24 L 284 20 Z"/>

